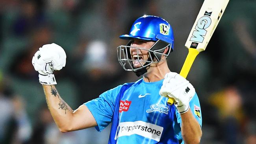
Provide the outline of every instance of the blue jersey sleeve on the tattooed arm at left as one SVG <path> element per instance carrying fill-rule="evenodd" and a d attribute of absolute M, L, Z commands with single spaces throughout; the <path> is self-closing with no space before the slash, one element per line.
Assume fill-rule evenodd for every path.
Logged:
<path fill-rule="evenodd" d="M 102 131 L 111 122 L 115 109 L 115 99 L 121 87 L 122 85 L 119 85 L 100 94 L 98 98 L 84 103 L 97 122 L 97 126 L 95 126 L 97 131 Z"/>

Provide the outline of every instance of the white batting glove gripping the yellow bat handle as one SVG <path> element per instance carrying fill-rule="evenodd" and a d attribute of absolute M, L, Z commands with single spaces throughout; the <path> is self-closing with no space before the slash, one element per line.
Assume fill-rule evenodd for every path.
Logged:
<path fill-rule="evenodd" d="M 173 98 L 179 113 L 186 113 L 189 110 L 189 102 L 195 95 L 195 88 L 176 72 L 169 72 L 165 75 L 159 94 Z"/>

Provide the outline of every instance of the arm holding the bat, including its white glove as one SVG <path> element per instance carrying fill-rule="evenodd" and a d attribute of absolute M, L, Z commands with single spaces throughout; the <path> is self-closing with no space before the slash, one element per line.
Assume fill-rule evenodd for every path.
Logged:
<path fill-rule="evenodd" d="M 182 138 L 186 144 L 199 144 L 202 137 L 200 124 L 189 108 L 189 102 L 195 96 L 195 88 L 176 72 L 165 75 L 159 94 L 175 100 L 174 105 L 180 113 Z"/>

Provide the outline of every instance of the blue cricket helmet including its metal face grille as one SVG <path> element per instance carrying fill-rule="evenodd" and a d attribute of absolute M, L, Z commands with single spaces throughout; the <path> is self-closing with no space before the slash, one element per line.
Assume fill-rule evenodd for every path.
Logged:
<path fill-rule="evenodd" d="M 117 47 L 117 56 L 120 65 L 126 71 L 133 71 L 137 76 L 141 76 L 147 72 L 147 67 L 152 63 L 159 63 L 163 59 L 163 55 L 166 59 L 170 52 L 173 51 L 173 29 L 170 24 L 163 18 L 144 15 L 135 20 L 130 34 L 121 35 L 121 39 L 130 40 L 128 44 Z M 142 39 L 147 41 L 154 41 L 155 43 L 150 49 L 131 47 L 133 39 Z M 137 59 L 133 59 L 130 54 L 130 48 L 134 48 L 137 51 Z M 164 52 L 168 48 L 167 52 Z M 148 59 L 140 59 L 139 51 L 147 50 Z M 139 63 L 140 67 L 134 67 L 134 62 Z"/>

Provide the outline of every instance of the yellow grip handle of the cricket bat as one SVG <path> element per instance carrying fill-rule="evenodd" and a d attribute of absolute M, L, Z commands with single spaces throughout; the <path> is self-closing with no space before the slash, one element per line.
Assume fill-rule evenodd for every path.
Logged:
<path fill-rule="evenodd" d="M 188 54 L 186 57 L 186 60 L 182 66 L 182 69 L 180 71 L 180 76 L 182 76 L 183 78 L 187 78 L 187 74 L 195 60 L 195 58 L 197 57 L 197 55 L 199 54 L 199 51 L 195 48 L 189 48 L 188 49 Z M 169 105 L 172 105 L 174 103 L 174 99 L 173 98 L 169 98 L 167 103 Z"/>

